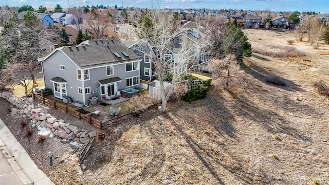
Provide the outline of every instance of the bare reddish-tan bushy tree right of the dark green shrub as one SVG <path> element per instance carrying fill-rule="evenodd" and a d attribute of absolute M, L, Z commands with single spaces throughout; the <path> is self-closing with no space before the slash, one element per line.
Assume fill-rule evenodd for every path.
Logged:
<path fill-rule="evenodd" d="M 211 85 L 217 89 L 232 90 L 242 81 L 242 70 L 233 54 L 228 54 L 223 60 L 211 60 L 208 66 L 212 71 Z"/>

